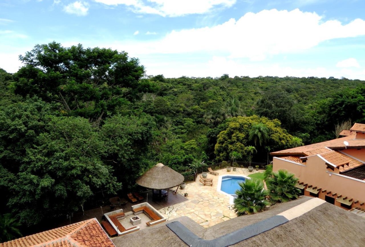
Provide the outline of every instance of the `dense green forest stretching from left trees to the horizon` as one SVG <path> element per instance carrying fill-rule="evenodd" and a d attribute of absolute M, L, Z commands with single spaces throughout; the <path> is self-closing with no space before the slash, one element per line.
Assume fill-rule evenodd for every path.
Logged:
<path fill-rule="evenodd" d="M 178 172 L 338 137 L 363 122 L 364 81 L 147 76 L 126 52 L 36 45 L 0 69 L 1 212 L 24 226 L 137 190 L 161 162 Z M 242 71 L 245 74 L 245 71 Z"/>

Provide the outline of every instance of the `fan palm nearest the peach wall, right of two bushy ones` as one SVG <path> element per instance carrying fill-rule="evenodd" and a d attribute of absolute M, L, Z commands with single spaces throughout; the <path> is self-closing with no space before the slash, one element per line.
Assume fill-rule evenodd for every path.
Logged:
<path fill-rule="evenodd" d="M 272 172 L 271 176 L 266 179 L 271 204 L 297 199 L 301 192 L 299 188 L 295 187 L 298 181 L 299 178 L 287 170 Z"/>

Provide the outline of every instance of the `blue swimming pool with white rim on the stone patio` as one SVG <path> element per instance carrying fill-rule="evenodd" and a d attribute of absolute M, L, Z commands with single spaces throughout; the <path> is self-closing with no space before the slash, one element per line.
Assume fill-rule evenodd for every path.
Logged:
<path fill-rule="evenodd" d="M 233 204 L 233 199 L 236 195 L 236 190 L 239 190 L 238 183 L 245 182 L 249 177 L 243 175 L 221 175 L 218 178 L 217 191 L 227 195 L 230 198 L 230 204 Z"/>

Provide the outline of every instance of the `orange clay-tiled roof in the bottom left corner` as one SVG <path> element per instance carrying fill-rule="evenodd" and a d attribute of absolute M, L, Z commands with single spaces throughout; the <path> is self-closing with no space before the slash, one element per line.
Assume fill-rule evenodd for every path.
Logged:
<path fill-rule="evenodd" d="M 35 245 L 46 247 L 115 246 L 96 218 L 0 243 L 0 247 Z"/>

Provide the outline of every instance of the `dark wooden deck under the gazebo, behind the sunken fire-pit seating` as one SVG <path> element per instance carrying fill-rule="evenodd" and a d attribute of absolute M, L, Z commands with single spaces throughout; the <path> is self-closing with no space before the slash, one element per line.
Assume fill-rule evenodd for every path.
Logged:
<path fill-rule="evenodd" d="M 127 200 L 128 203 L 123 205 L 121 208 L 123 208 L 123 212 L 129 212 L 132 211 L 132 205 L 136 205 L 142 202 L 146 202 L 147 201 L 147 195 L 148 195 L 148 203 L 151 204 L 152 207 L 154 207 L 155 209 L 159 210 L 161 208 L 164 207 L 168 207 L 177 203 L 181 203 L 184 202 L 186 200 L 188 200 L 187 198 L 185 198 L 183 195 L 180 194 L 173 194 L 173 192 L 169 191 L 169 197 L 167 200 L 162 200 L 161 202 L 154 202 L 152 201 L 152 191 L 146 191 L 146 192 L 142 192 L 140 193 L 141 196 L 144 197 L 144 199 L 142 201 L 138 201 L 135 203 L 131 203 L 128 200 L 127 195 L 125 195 L 124 198 L 120 197 L 120 199 L 123 200 Z M 76 222 L 80 222 L 82 220 L 87 220 L 87 219 L 91 219 L 91 218 L 96 218 L 97 220 L 101 220 L 101 217 L 103 216 L 103 214 L 107 213 L 107 212 L 111 212 L 114 210 L 118 210 L 119 207 L 115 207 L 114 209 L 111 210 L 110 206 L 103 206 L 103 207 L 98 207 L 98 208 L 93 208 L 91 210 L 86 210 L 84 215 L 82 215 L 82 212 L 77 212 L 73 215 L 73 217 L 71 218 L 71 223 L 76 223 Z M 59 225 L 57 227 L 61 227 L 61 226 L 65 226 L 70 224 L 69 220 L 65 220 L 64 222 L 60 222 Z"/>

